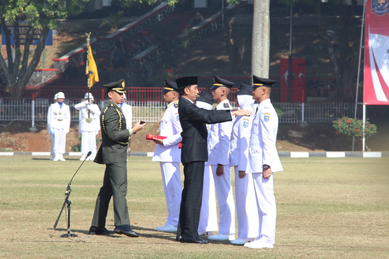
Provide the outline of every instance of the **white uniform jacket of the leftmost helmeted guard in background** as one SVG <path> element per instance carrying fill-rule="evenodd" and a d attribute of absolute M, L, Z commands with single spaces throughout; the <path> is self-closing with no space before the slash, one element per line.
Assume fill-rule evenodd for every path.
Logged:
<path fill-rule="evenodd" d="M 49 108 L 50 114 L 50 128 L 63 129 L 65 133 L 70 129 L 70 109 L 69 105 L 63 103 L 62 108 L 58 102 L 53 103 Z M 53 132 L 51 130 L 51 132 Z"/>

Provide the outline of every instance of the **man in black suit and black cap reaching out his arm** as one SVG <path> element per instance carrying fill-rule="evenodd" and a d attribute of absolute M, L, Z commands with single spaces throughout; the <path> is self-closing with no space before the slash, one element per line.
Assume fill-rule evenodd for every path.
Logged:
<path fill-rule="evenodd" d="M 181 162 L 184 166 L 177 241 L 182 243 L 208 243 L 198 237 L 198 223 L 203 196 L 204 163 L 208 160 L 207 124 L 231 121 L 235 115 L 250 115 L 248 110 L 205 110 L 194 101 L 199 93 L 197 77 L 176 79 L 179 97 L 178 114 L 182 127 Z"/>

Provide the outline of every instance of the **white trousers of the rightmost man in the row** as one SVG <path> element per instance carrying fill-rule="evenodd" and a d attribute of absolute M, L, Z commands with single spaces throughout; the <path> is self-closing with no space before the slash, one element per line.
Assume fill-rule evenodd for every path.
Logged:
<path fill-rule="evenodd" d="M 275 207 L 273 174 L 265 179 L 262 173 L 253 173 L 252 179 L 254 180 L 259 216 L 259 236 L 257 240 L 262 238 L 266 242 L 274 244 L 277 210 Z"/>

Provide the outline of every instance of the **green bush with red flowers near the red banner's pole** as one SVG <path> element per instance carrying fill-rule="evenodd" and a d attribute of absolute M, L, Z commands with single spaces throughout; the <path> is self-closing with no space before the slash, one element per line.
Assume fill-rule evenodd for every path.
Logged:
<path fill-rule="evenodd" d="M 352 119 L 349 117 L 343 117 L 332 122 L 335 128 L 336 135 L 346 135 L 350 137 L 359 137 L 365 134 L 365 138 L 371 137 L 377 133 L 377 126 L 371 124 L 368 119 L 365 121 L 365 127 L 363 128 L 363 121 L 359 119 Z"/>

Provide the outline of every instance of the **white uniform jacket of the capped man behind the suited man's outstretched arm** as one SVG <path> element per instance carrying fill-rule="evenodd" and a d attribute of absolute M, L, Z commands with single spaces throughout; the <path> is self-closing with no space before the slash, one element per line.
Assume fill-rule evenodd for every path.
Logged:
<path fill-rule="evenodd" d="M 216 105 L 216 110 L 231 110 L 228 100 Z M 233 121 L 211 124 L 208 144 L 208 161 L 205 165 L 230 165 L 230 139 Z"/>

